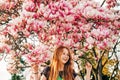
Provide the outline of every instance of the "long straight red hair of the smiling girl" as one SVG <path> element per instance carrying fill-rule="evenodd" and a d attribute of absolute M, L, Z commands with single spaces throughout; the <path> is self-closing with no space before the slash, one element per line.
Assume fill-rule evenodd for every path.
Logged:
<path fill-rule="evenodd" d="M 64 80 L 74 80 L 73 77 L 73 61 L 72 61 L 72 51 L 66 47 L 66 46 L 59 46 L 55 49 L 54 54 L 53 54 L 53 58 L 50 64 L 50 75 L 49 75 L 49 79 L 48 80 L 57 80 L 57 77 L 59 75 L 59 70 L 60 70 L 60 60 L 59 57 L 62 55 L 63 53 L 63 49 L 67 49 L 68 53 L 69 53 L 69 60 L 67 63 L 65 63 L 64 65 L 64 75 L 63 75 L 63 79 Z"/>

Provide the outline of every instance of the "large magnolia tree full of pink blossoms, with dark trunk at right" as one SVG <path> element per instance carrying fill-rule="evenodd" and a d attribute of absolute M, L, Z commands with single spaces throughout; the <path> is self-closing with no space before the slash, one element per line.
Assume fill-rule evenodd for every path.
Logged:
<path fill-rule="evenodd" d="M 16 1 L 6 0 L 9 3 Z M 0 32 L 1 59 L 3 55 L 9 56 L 6 57 L 10 63 L 8 71 L 16 74 L 21 68 L 48 61 L 56 45 L 65 45 L 93 66 L 94 80 L 102 80 L 104 67 L 115 55 L 116 62 L 109 74 L 112 80 L 117 75 L 119 64 L 115 50 L 120 43 L 120 10 L 114 9 L 117 2 L 22 0 L 17 9 L 18 16 L 5 16 L 11 19 L 9 22 L 1 19 L 7 21 Z M 14 5 L 9 8 L 15 10 Z"/>

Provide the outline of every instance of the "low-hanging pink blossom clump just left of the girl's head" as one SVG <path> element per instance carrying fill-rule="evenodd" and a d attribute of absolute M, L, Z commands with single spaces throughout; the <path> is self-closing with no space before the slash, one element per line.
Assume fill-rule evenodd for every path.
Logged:
<path fill-rule="evenodd" d="M 49 58 L 49 49 L 47 46 L 41 45 L 40 47 L 33 49 L 31 53 L 26 54 L 26 58 L 29 64 L 43 63 Z"/>

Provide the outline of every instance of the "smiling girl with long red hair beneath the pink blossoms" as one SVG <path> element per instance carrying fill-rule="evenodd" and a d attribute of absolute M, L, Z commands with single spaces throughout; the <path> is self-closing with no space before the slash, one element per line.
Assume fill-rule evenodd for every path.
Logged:
<path fill-rule="evenodd" d="M 56 48 L 49 67 L 46 67 L 40 80 L 80 80 L 73 70 L 72 51 L 65 46 Z M 87 74 L 90 80 L 90 74 Z"/>

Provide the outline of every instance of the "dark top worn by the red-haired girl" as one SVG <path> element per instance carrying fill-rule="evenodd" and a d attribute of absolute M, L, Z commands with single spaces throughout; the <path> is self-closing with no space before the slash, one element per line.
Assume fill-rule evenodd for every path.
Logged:
<path fill-rule="evenodd" d="M 47 80 L 48 80 L 49 74 L 50 74 L 50 67 L 48 66 L 48 67 L 46 67 L 45 69 L 43 69 L 41 75 L 44 75 L 44 76 L 47 78 Z M 63 75 L 63 71 L 60 71 L 60 72 L 59 72 L 59 76 L 60 76 L 61 78 L 62 78 L 62 75 Z M 77 73 L 75 73 L 75 71 L 73 71 L 73 77 L 75 78 L 76 76 L 77 76 Z"/>

